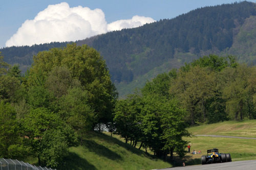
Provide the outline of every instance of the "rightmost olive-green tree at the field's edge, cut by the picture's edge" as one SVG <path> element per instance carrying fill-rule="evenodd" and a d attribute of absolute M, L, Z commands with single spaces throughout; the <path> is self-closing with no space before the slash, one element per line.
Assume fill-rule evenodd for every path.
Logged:
<path fill-rule="evenodd" d="M 230 72 L 229 72 L 230 73 Z M 225 72 L 224 72 L 225 74 Z M 225 74 L 226 75 L 226 74 Z M 226 109 L 231 119 L 255 118 L 255 67 L 239 65 L 229 74 L 229 82 L 223 89 L 223 98 L 227 100 Z"/>

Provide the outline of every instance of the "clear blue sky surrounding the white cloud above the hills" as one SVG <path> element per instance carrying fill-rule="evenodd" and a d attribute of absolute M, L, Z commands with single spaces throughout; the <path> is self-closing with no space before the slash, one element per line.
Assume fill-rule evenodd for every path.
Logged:
<path fill-rule="evenodd" d="M 221 5 L 221 4 L 229 4 L 237 1 L 232 0 L 159 0 L 159 1 L 152 1 L 152 0 L 130 0 L 130 1 L 116 1 L 116 0 L 72 0 L 72 1 L 58 1 L 58 0 L 1 0 L 0 6 L 0 47 L 4 47 L 7 40 L 9 40 L 15 33 L 17 33 L 18 29 L 22 27 L 23 23 L 26 20 L 33 20 L 35 16 L 41 11 L 44 11 L 48 8 L 49 5 L 60 4 L 61 2 L 68 3 L 70 9 L 73 7 L 81 6 L 81 7 L 88 7 L 91 10 L 96 8 L 101 9 L 104 13 L 104 19 L 107 23 L 105 27 L 108 27 L 109 23 L 112 23 L 117 20 L 121 19 L 131 19 L 133 16 L 144 16 L 150 17 L 154 20 L 160 20 L 165 18 L 174 18 L 180 14 L 187 13 L 190 10 L 197 9 L 200 7 L 205 6 L 214 6 L 214 5 Z M 256 2 L 253 0 L 251 2 Z M 95 12 L 95 11 L 91 11 Z M 141 18 L 140 18 L 141 19 Z M 143 20 L 143 18 L 142 18 Z M 128 20 L 127 20 L 128 21 Z M 126 22 L 127 22 L 126 21 Z M 126 23 L 125 22 L 125 23 Z M 148 21 L 147 18 L 147 22 Z M 129 23 L 135 27 L 130 21 Z M 140 22 L 143 24 L 143 22 Z M 92 23 L 91 23 L 92 24 Z M 117 27 L 117 23 L 115 22 L 115 26 Z M 122 23 L 123 24 L 123 23 Z M 118 25 L 118 26 L 119 26 Z M 29 34 L 29 26 L 27 25 L 26 35 Z M 33 25 L 32 25 L 33 26 Z M 31 26 L 31 28 L 32 28 Z M 87 28 L 88 26 L 84 26 Z M 96 26 L 95 26 L 96 27 Z M 108 31 L 108 29 L 105 29 Z M 84 36 L 90 36 L 98 33 L 98 30 L 91 30 L 94 32 L 93 34 L 87 34 Z M 25 34 L 24 32 L 20 32 L 19 34 Z M 31 30 L 31 32 L 36 32 L 35 30 Z M 47 32 L 47 30 L 46 30 Z M 102 32 L 99 32 L 102 33 Z M 40 34 L 37 32 L 37 34 Z M 69 33 L 71 34 L 71 33 Z M 67 33 L 67 36 L 69 35 Z M 26 35 L 23 35 L 26 37 Z M 31 33 L 31 36 L 33 34 Z M 80 36 L 80 35 L 77 35 Z M 65 38 L 65 37 L 63 37 Z M 76 38 L 76 37 L 73 37 Z M 83 38 L 81 38 L 83 39 Z M 14 41 L 14 40 L 13 40 Z M 61 40 L 60 40 L 61 41 Z M 23 42 L 20 42 L 23 43 Z M 24 42 L 25 43 L 25 42 Z M 31 38 L 30 43 L 33 43 L 33 39 Z M 36 42 L 35 42 L 36 43 Z"/>

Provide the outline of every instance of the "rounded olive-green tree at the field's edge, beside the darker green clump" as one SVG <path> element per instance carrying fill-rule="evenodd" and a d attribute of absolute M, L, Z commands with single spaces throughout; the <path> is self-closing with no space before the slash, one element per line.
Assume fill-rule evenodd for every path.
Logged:
<path fill-rule="evenodd" d="M 170 87 L 170 93 L 175 95 L 188 111 L 187 118 L 191 124 L 206 121 L 207 100 L 214 96 L 214 85 L 214 72 L 195 66 L 185 74 L 181 72 Z"/>

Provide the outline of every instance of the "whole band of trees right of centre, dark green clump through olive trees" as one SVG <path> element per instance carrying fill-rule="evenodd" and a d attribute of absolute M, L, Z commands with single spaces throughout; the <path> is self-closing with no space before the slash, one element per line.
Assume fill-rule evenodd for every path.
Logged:
<path fill-rule="evenodd" d="M 204 56 L 160 74 L 115 108 L 116 133 L 157 156 L 183 156 L 187 126 L 256 118 L 256 67 Z"/>

